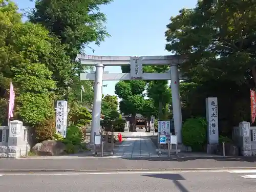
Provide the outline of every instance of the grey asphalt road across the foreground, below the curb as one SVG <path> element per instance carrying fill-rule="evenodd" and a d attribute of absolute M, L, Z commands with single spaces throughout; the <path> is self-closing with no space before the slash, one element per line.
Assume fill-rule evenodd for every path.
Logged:
<path fill-rule="evenodd" d="M 256 170 L 253 170 L 254 176 Z M 155 173 L 65 173 L 12 174 L 0 177 L 1 191 L 161 191 L 161 192 L 242 192 L 255 191 L 253 174 L 223 172 Z"/>

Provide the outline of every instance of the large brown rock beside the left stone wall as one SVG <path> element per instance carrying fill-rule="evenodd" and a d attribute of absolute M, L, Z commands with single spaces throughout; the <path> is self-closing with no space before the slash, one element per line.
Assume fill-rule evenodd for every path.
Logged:
<path fill-rule="evenodd" d="M 66 146 L 61 141 L 47 140 L 35 144 L 31 151 L 39 156 L 57 156 L 65 153 Z"/>

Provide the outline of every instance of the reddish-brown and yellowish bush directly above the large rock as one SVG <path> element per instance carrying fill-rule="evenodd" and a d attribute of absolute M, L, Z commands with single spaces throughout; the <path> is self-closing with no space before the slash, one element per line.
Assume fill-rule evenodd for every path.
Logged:
<path fill-rule="evenodd" d="M 34 125 L 36 141 L 54 139 L 56 134 L 55 118 L 46 119 L 44 122 Z"/>

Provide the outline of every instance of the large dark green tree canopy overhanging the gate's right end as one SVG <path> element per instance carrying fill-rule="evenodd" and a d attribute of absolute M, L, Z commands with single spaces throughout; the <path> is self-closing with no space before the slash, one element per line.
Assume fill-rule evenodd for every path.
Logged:
<path fill-rule="evenodd" d="M 252 1 L 199 1 L 170 18 L 166 50 L 187 56 L 181 72 L 193 81 L 250 82 L 255 63 Z"/>

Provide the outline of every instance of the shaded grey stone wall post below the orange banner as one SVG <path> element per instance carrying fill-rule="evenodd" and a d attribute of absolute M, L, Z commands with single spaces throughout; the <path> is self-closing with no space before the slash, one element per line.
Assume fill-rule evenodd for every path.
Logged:
<path fill-rule="evenodd" d="M 239 146 L 242 156 L 256 155 L 256 127 L 243 121 L 233 127 L 232 140 Z"/>

